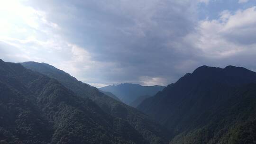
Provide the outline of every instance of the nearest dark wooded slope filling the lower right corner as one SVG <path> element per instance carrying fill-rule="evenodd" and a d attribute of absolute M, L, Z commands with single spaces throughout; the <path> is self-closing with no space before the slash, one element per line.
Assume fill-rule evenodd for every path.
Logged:
<path fill-rule="evenodd" d="M 170 144 L 256 144 L 256 84 L 245 85 Z"/>

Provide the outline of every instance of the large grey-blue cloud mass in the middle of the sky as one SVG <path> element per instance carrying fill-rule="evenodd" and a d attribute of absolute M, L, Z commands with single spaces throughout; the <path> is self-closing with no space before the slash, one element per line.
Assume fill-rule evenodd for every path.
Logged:
<path fill-rule="evenodd" d="M 106 83 L 143 83 L 141 76 L 156 75 L 165 75 L 165 85 L 173 81 L 167 78 L 168 63 L 184 56 L 167 44 L 180 41 L 196 23 L 196 0 L 62 1 L 61 8 L 49 3 L 36 1 L 33 7 L 61 28 L 64 39 L 91 54 Z"/>

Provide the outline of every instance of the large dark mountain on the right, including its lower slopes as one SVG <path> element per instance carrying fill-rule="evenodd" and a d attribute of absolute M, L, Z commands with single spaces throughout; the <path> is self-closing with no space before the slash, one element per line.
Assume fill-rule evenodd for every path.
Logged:
<path fill-rule="evenodd" d="M 256 72 L 202 66 L 137 108 L 168 128 L 170 144 L 255 144 Z"/>

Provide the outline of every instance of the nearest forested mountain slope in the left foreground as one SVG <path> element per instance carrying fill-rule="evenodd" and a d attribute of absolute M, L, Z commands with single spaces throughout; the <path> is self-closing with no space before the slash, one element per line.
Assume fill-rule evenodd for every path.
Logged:
<path fill-rule="evenodd" d="M 0 60 L 0 144 L 148 144 L 55 79 Z"/>

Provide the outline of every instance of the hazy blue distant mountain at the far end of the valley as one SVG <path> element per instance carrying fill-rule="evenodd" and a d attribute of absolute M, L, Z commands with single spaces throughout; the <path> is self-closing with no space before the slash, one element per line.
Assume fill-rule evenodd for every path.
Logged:
<path fill-rule="evenodd" d="M 110 85 L 100 88 L 103 91 L 110 91 L 121 101 L 130 105 L 138 97 L 143 95 L 154 96 L 158 91 L 162 91 L 163 86 L 141 86 L 139 84 L 122 83 L 119 85 Z"/>

